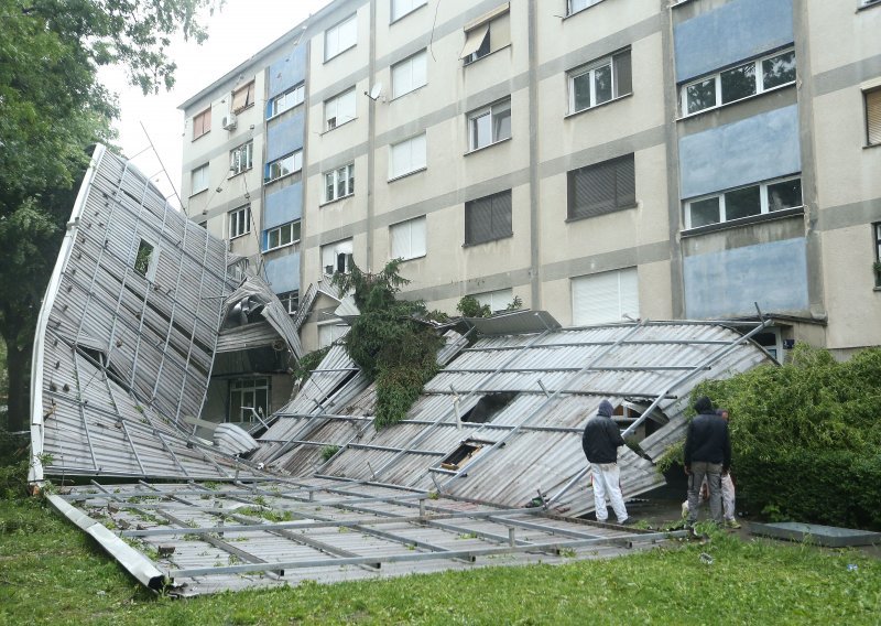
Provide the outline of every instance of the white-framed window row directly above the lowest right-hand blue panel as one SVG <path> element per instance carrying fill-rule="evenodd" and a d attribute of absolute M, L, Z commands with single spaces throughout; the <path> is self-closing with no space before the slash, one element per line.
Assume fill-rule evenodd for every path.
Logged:
<path fill-rule="evenodd" d="M 802 179 L 750 185 L 686 203 L 685 227 L 698 228 L 802 206 Z"/>

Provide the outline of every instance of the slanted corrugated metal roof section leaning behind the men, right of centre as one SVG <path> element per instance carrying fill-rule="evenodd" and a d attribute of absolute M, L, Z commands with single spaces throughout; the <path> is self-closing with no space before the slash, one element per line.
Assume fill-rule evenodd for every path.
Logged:
<path fill-rule="evenodd" d="M 305 411 L 295 421 L 280 418 L 274 432 L 284 433 L 285 441 L 308 442 L 289 445 L 279 467 L 294 475 L 320 468 L 349 479 L 439 487 L 450 496 L 511 507 L 523 506 L 541 490 L 556 496 L 554 505 L 564 515 L 579 516 L 594 508 L 581 430 L 600 400 L 646 406 L 657 399 L 662 425 L 640 443 L 649 458 L 656 460 L 684 436 L 683 411 L 695 385 L 772 363 L 758 346 L 741 339 L 724 325 L 689 322 L 485 337 L 426 384 L 407 419 L 396 425 L 377 431 L 363 420 L 344 419 L 372 417 L 372 387 L 359 391 L 360 400 L 334 419 L 306 417 Z M 351 364 L 342 367 L 341 361 L 340 352 L 328 355 L 313 375 L 316 389 L 345 395 L 345 388 L 338 389 L 340 369 Z M 489 423 L 456 423 L 457 400 L 464 415 L 485 395 L 502 391 L 514 393 L 514 399 Z M 268 433 L 267 439 L 274 435 Z M 440 468 L 443 457 L 469 439 L 483 442 L 482 449 L 458 472 Z M 324 464 L 319 451 L 327 445 L 342 450 Z M 663 484 L 650 460 L 621 452 L 628 497 Z"/>

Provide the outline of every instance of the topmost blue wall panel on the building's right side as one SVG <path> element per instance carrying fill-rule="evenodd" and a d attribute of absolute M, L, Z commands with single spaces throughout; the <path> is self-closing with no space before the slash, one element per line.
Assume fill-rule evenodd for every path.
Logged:
<path fill-rule="evenodd" d="M 676 80 L 791 44 L 792 1 L 735 0 L 676 25 Z"/>

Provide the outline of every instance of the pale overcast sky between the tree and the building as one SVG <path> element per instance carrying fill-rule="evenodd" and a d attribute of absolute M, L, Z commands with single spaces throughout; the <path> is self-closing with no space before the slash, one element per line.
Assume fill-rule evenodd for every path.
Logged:
<path fill-rule="evenodd" d="M 183 39 L 173 43 L 170 56 L 177 63 L 177 72 L 174 89 L 168 93 L 163 90 L 144 96 L 139 88 L 126 85 L 121 71 L 101 72 L 101 82 L 119 94 L 121 115 L 116 127 L 123 152 L 154 180 L 172 204 L 180 206 L 172 184 L 180 193 L 184 140 L 184 116 L 177 109 L 181 102 L 263 50 L 329 1 L 227 0 L 222 11 L 206 18 L 208 40 L 205 43 L 196 45 L 185 43 Z M 150 141 L 155 147 L 155 154 L 149 150 Z M 162 165 L 172 183 L 162 173 Z"/>

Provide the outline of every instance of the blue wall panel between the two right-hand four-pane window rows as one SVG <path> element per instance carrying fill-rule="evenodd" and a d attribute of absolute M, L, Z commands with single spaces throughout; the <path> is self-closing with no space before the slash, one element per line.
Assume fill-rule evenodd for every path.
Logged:
<path fill-rule="evenodd" d="M 683 137 L 682 197 L 801 172 L 801 150 L 797 105 Z"/>

